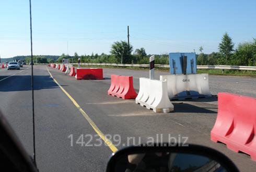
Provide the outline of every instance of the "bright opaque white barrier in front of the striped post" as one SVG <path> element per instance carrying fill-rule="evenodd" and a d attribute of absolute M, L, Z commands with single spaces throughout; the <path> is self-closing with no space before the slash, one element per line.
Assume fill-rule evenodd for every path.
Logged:
<path fill-rule="evenodd" d="M 152 108 L 154 112 L 168 113 L 173 111 L 167 93 L 167 82 L 139 78 L 139 92 L 135 100 L 136 104 Z"/>

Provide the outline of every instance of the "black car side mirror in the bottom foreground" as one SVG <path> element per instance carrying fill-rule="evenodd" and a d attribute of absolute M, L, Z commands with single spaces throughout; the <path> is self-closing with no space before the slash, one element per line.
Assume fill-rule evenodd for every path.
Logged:
<path fill-rule="evenodd" d="M 165 144 L 163 144 L 165 145 Z M 224 154 L 199 146 L 131 146 L 113 153 L 107 172 L 239 171 Z"/>

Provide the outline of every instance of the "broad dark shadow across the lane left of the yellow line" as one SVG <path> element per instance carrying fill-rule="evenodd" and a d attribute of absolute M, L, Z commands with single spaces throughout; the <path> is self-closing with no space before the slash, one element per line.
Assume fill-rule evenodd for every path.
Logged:
<path fill-rule="evenodd" d="M 0 80 L 8 76 L 0 76 Z M 54 89 L 58 85 L 49 76 L 34 76 L 34 90 Z M 31 76 L 11 76 L 0 82 L 0 92 L 31 90 Z"/>

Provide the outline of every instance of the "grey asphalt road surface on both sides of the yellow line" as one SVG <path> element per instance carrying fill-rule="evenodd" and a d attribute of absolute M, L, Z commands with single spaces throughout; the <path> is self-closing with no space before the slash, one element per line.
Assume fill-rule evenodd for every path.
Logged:
<path fill-rule="evenodd" d="M 0 71 L 0 109 L 32 155 L 30 69 L 25 66 L 22 70 Z M 210 140 L 217 115 L 216 97 L 173 102 L 174 113 L 154 113 L 135 104 L 134 100 L 107 95 L 111 74 L 133 76 L 134 88 L 138 91 L 138 78 L 148 77 L 148 71 L 104 69 L 104 80 L 77 81 L 59 70 L 48 69 L 103 134 L 115 137 L 112 142 L 118 149 L 133 142 L 137 144 L 139 139 L 147 142 L 150 137 L 155 141 L 161 136 L 163 141 L 170 137 L 188 137 L 189 143 L 206 145 L 224 153 L 241 171 L 256 169 L 256 162 L 251 161 L 250 156 L 232 152 L 224 144 Z M 156 78 L 161 74 L 167 72 L 156 72 Z M 210 91 L 215 95 L 225 91 L 256 97 L 255 78 L 210 76 L 209 82 Z M 40 171 L 104 171 L 112 151 L 104 143 L 95 145 L 102 140 L 95 136 L 95 130 L 43 65 L 34 66 L 34 90 L 36 158 Z M 79 143 L 81 134 L 88 146 Z"/>

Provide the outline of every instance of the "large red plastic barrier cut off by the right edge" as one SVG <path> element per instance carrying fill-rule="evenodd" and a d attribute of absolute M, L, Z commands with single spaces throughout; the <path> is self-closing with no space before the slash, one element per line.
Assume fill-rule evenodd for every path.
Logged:
<path fill-rule="evenodd" d="M 211 140 L 222 142 L 235 152 L 251 155 L 256 161 L 256 99 L 218 93 L 218 115 Z"/>

